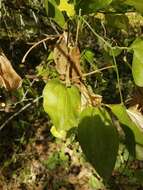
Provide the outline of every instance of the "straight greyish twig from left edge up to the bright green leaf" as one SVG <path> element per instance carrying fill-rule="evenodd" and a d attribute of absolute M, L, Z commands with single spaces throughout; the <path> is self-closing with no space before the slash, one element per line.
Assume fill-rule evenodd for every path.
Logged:
<path fill-rule="evenodd" d="M 16 116 L 18 116 L 21 112 L 26 110 L 28 107 L 30 107 L 32 104 L 38 102 L 43 96 L 39 96 L 36 99 L 34 99 L 32 102 L 26 104 L 24 107 L 22 107 L 18 112 L 14 113 L 12 116 L 10 116 L 1 126 L 0 131 Z"/>

